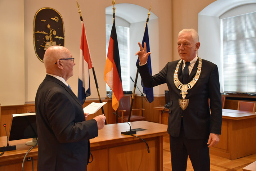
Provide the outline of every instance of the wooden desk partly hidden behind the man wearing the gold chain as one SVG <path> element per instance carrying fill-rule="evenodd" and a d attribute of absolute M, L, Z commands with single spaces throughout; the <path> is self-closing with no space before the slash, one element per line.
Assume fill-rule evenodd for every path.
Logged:
<path fill-rule="evenodd" d="M 160 123 L 167 124 L 168 112 L 158 110 Z M 169 111 L 169 109 L 165 109 Z M 162 113 L 162 114 L 161 114 Z M 167 118 L 167 119 L 166 119 Z M 223 109 L 220 141 L 210 148 L 210 153 L 231 160 L 256 153 L 256 113 Z"/>

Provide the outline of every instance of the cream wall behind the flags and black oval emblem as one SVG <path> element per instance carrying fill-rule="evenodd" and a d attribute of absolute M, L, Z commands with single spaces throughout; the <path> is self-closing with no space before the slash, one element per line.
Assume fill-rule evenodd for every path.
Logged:
<path fill-rule="evenodd" d="M 146 9 L 152 2 L 151 11 L 157 15 L 159 23 L 159 65 L 153 70 L 160 70 L 172 54 L 171 50 L 171 1 L 162 0 L 120 0 L 116 3 L 131 3 Z M 8 24 L 1 33 L 6 35 L 1 46 L 1 94 L 2 105 L 14 105 L 34 102 L 36 90 L 45 77 L 44 64 L 36 57 L 33 48 L 33 19 L 37 10 L 43 7 L 56 9 L 63 17 L 65 27 L 65 47 L 75 57 L 74 76 L 68 84 L 77 94 L 78 57 L 81 41 L 81 23 L 76 1 L 70 0 L 24 0 L 0 1 L 1 23 Z M 105 95 L 103 73 L 105 67 L 105 8 L 111 6 L 112 0 L 78 0 L 85 21 L 87 39 L 96 72 L 100 93 Z M 116 9 L 118 10 L 118 9 Z M 24 15 L 23 15 L 24 14 Z M 5 18 L 3 17 L 5 16 Z M 18 24 L 18 25 L 17 25 Z M 8 37 L 7 37 L 8 36 Z M 7 44 L 6 44 L 7 41 Z M 93 78 L 93 75 L 91 75 Z M 5 82 L 5 84 L 3 84 Z M 158 87 L 159 90 L 161 88 Z M 164 87 L 166 89 L 166 86 Z M 4 92 L 4 93 L 3 93 Z M 160 92 L 160 91 L 156 91 Z M 163 93 L 162 93 L 163 94 Z M 91 80 L 91 96 L 87 99 L 98 98 L 94 80 Z M 14 100 L 15 99 L 15 100 Z M 16 102 L 17 100 L 17 102 Z"/>

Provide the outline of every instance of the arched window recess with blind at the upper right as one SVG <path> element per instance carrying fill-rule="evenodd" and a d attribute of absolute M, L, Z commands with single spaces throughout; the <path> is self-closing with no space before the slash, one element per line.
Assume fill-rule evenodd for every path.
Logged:
<path fill-rule="evenodd" d="M 256 48 L 247 44 L 246 40 L 241 42 L 241 35 L 248 41 L 248 33 L 252 32 L 248 32 L 246 24 L 239 24 L 242 20 L 248 24 L 248 17 L 247 19 L 242 17 L 242 20 L 241 16 L 238 17 L 238 15 L 245 16 L 247 13 L 256 12 L 256 0 L 253 1 L 217 0 L 198 14 L 198 34 L 201 42 L 198 55 L 217 64 L 223 93 L 255 93 L 256 91 L 256 73 L 251 74 L 253 69 L 250 66 L 251 62 L 255 61 L 256 54 L 251 50 L 244 51 L 248 48 L 252 50 Z M 231 21 L 233 23 L 228 24 Z M 239 31 L 235 32 L 233 29 L 238 27 Z M 246 34 L 247 38 L 244 36 Z M 253 39 L 252 34 L 250 36 L 249 39 Z M 255 46 L 255 41 L 252 44 Z M 250 64 L 246 61 L 250 61 Z M 256 69 L 253 72 L 256 72 Z"/>

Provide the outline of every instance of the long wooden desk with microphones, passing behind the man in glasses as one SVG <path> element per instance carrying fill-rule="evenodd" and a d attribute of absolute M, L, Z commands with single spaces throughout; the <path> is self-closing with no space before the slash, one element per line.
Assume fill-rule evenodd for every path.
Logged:
<path fill-rule="evenodd" d="M 163 135 L 167 133 L 167 125 L 137 121 L 129 122 L 132 129 L 142 128 L 136 136 L 147 141 L 146 144 L 130 135 L 122 135 L 121 132 L 130 129 L 127 123 L 105 125 L 99 130 L 99 136 L 90 140 L 93 162 L 87 166 L 88 171 L 112 171 L 112 170 L 163 170 Z M 0 156 L 0 170 L 21 170 L 23 157 L 31 146 L 24 143 L 28 140 L 9 141 L 10 145 L 16 145 L 17 150 L 5 152 Z M 0 146 L 6 146 L 6 137 L 0 137 Z M 34 169 L 37 170 L 37 147 L 32 149 L 27 157 L 33 157 Z M 32 170 L 31 161 L 26 161 L 24 170 Z"/>

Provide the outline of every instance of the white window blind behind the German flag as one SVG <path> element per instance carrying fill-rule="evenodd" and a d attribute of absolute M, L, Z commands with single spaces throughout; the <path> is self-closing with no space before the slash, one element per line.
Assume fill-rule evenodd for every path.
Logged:
<path fill-rule="evenodd" d="M 108 55 L 108 45 L 109 45 L 111 29 L 112 29 L 112 25 L 106 24 L 106 59 Z M 123 91 L 130 91 L 129 27 L 116 26 L 116 34 L 117 34 L 119 57 L 120 57 Z M 107 84 L 106 84 L 106 88 L 107 88 L 107 91 L 111 91 L 111 89 Z"/>

